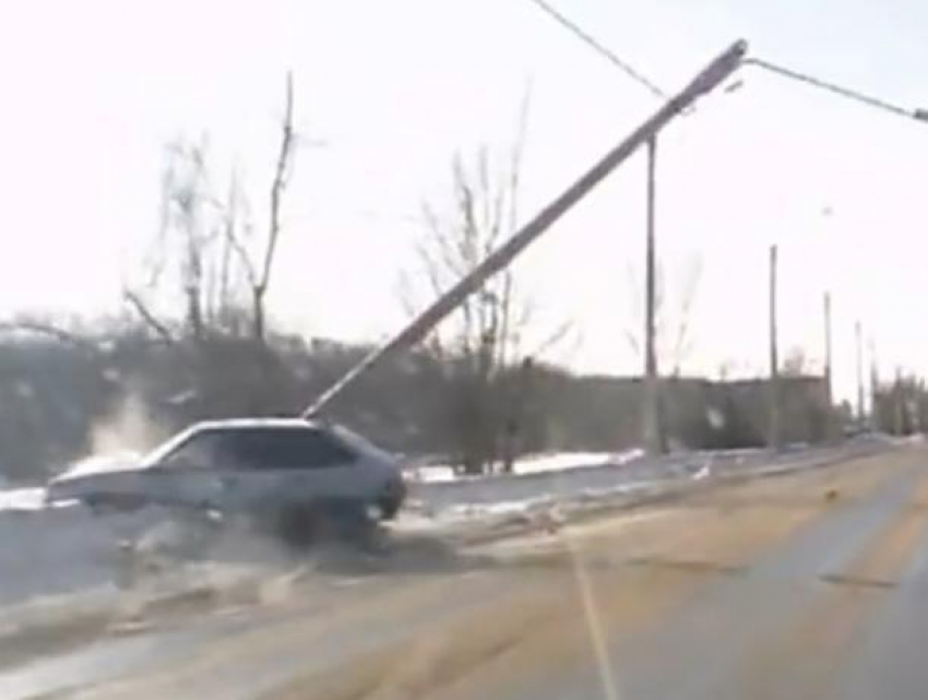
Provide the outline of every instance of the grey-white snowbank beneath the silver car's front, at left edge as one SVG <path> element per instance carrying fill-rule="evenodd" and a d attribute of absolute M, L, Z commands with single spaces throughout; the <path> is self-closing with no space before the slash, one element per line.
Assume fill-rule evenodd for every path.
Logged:
<path fill-rule="evenodd" d="M 235 523 L 162 509 L 0 511 L 0 645 L 36 629 L 131 628 L 191 604 L 278 600 L 302 563 Z"/>

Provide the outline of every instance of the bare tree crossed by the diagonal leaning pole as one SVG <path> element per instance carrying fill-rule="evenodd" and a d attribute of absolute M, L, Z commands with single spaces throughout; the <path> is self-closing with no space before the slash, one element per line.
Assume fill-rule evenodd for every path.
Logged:
<path fill-rule="evenodd" d="M 417 248 L 417 276 L 425 282 L 420 295 L 443 294 L 516 229 L 527 109 L 526 93 L 505 166 L 498 167 L 487 149 L 469 161 L 459 155 L 452 162 L 449 204 L 424 206 L 426 235 Z M 409 276 L 402 283 L 404 305 L 414 313 L 415 285 Z M 533 369 L 534 354 L 525 352 L 524 337 L 531 313 L 507 269 L 467 297 L 426 342 L 445 368 L 449 413 L 443 419 L 466 472 L 486 471 L 500 458 L 511 465 Z M 563 332 L 559 329 L 544 346 Z"/>

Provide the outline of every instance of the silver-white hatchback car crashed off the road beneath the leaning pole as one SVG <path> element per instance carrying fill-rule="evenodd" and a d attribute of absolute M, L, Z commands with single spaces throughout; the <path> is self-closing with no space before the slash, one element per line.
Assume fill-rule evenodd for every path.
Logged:
<path fill-rule="evenodd" d="M 195 424 L 136 463 L 64 472 L 46 499 L 221 512 L 346 506 L 389 520 L 405 495 L 398 461 L 342 426 L 248 418 Z"/>

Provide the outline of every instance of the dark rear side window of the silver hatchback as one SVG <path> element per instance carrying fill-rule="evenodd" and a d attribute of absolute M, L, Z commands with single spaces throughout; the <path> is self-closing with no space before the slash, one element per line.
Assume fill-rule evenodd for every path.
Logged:
<path fill-rule="evenodd" d="M 334 437 L 314 429 L 243 430 L 236 435 L 235 466 L 253 470 L 316 470 L 355 461 Z"/>

